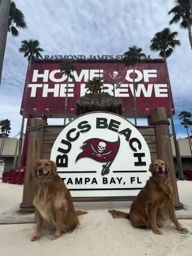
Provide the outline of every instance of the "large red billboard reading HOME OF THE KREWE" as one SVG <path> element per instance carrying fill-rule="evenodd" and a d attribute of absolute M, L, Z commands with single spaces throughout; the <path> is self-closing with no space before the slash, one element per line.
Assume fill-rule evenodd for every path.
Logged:
<path fill-rule="evenodd" d="M 61 74 L 61 60 L 34 60 L 29 71 L 25 112 L 34 117 L 42 114 L 63 117 L 67 76 Z M 86 93 L 86 83 L 93 77 L 102 79 L 103 91 L 123 102 L 124 116 L 133 117 L 133 70 L 121 60 L 76 60 L 76 70 L 68 82 L 67 116 L 75 116 L 76 100 Z M 161 59 L 145 60 L 135 68 L 136 112 L 146 117 L 151 108 L 168 109 L 166 68 Z M 25 84 L 26 90 L 26 84 Z M 171 96 L 172 97 L 172 96 Z M 20 113 L 24 106 L 24 96 Z M 173 100 L 172 100 L 173 109 Z"/>

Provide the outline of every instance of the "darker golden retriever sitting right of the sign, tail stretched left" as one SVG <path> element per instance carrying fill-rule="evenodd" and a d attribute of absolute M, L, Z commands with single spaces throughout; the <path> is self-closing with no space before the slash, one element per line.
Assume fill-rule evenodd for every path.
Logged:
<path fill-rule="evenodd" d="M 163 160 L 155 160 L 150 164 L 152 177 L 133 200 L 129 214 L 121 211 L 109 211 L 113 218 L 126 218 L 133 227 L 151 228 L 154 233 L 162 235 L 165 220 L 172 220 L 177 230 L 189 232 L 180 226 L 175 215 L 173 189 L 168 179 L 168 164 Z"/>

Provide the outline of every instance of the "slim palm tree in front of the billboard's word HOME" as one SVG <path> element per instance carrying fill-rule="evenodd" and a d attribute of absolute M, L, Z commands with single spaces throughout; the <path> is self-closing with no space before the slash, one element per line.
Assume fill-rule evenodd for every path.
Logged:
<path fill-rule="evenodd" d="M 67 76 L 67 88 L 66 88 L 66 96 L 65 96 L 65 108 L 64 108 L 64 125 L 66 125 L 66 114 L 67 114 L 67 99 L 68 99 L 68 79 L 72 77 L 75 68 L 75 61 L 63 60 L 59 65 L 60 71 L 62 74 Z"/>

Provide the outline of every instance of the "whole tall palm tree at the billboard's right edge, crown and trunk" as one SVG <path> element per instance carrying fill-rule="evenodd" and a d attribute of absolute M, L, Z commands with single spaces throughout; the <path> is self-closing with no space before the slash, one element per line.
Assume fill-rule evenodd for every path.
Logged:
<path fill-rule="evenodd" d="M 159 56 L 163 58 L 164 65 L 166 68 L 166 74 L 167 74 L 167 86 L 168 86 L 168 102 L 169 102 L 169 112 L 170 112 L 170 118 L 172 123 L 172 131 L 173 131 L 173 140 L 175 145 L 175 152 L 177 156 L 177 168 L 179 173 L 179 179 L 184 180 L 184 174 L 182 170 L 182 163 L 180 159 L 180 152 L 179 152 L 179 146 L 177 143 L 176 138 L 176 132 L 175 132 L 175 125 L 173 122 L 173 115 L 172 115 L 172 102 L 170 98 L 170 79 L 168 77 L 168 66 L 166 62 L 166 58 L 170 57 L 173 53 L 173 49 L 175 49 L 176 46 L 180 45 L 180 41 L 176 39 L 178 33 L 170 31 L 169 28 L 164 28 L 162 31 L 157 32 L 150 41 L 152 44 L 150 45 L 150 49 L 152 51 L 159 51 Z"/>

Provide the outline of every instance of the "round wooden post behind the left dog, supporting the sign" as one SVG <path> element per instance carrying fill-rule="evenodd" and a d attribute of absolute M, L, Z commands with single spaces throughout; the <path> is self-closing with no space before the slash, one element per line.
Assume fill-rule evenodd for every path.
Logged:
<path fill-rule="evenodd" d="M 35 191 L 35 179 L 31 175 L 35 168 L 37 159 L 42 157 L 42 147 L 44 138 L 44 125 L 46 123 L 42 119 L 31 118 L 31 126 L 29 130 L 28 152 L 26 159 L 26 172 L 24 177 L 24 189 L 22 195 L 22 203 L 20 209 L 24 211 L 34 211 L 33 196 Z"/>

